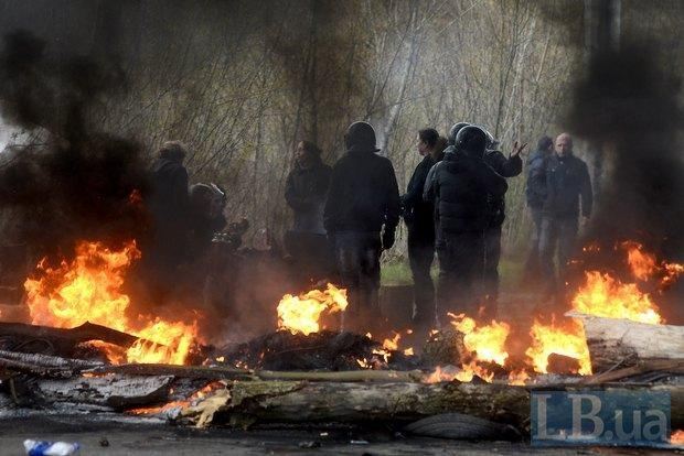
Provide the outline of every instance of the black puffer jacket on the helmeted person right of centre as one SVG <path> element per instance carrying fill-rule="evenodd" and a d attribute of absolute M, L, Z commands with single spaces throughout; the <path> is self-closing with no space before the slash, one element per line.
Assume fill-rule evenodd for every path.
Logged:
<path fill-rule="evenodd" d="M 424 197 L 435 200 L 437 236 L 483 231 L 489 228 L 488 199 L 503 197 L 509 185 L 483 160 L 447 153 L 432 166 Z"/>

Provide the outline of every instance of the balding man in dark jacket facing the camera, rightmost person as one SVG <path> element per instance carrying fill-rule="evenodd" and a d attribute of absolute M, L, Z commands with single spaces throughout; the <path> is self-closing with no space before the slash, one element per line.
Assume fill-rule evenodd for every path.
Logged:
<path fill-rule="evenodd" d="M 539 261 L 543 274 L 547 279 L 547 291 L 560 297 L 556 282 L 563 281 L 565 268 L 575 248 L 580 199 L 583 225 L 589 219 L 594 203 L 587 164 L 573 154 L 573 138 L 568 133 L 562 133 L 556 138 L 555 153 L 548 158 L 546 192 L 542 207 Z M 558 249 L 557 276 L 554 268 L 556 245 Z"/>

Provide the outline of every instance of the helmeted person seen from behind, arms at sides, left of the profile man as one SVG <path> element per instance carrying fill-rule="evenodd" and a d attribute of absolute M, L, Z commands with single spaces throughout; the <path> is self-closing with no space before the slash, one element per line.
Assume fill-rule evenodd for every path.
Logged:
<path fill-rule="evenodd" d="M 346 153 L 332 169 L 323 219 L 349 290 L 348 327 L 365 333 L 381 316 L 380 256 L 394 245 L 399 188 L 392 162 L 375 154 L 380 149 L 370 123 L 352 123 L 344 142 Z"/>

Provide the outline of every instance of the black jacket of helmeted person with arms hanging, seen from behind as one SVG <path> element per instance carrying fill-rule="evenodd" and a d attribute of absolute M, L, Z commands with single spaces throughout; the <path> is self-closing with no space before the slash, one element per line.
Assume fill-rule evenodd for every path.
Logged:
<path fill-rule="evenodd" d="M 374 152 L 346 152 L 332 169 L 323 221 L 328 232 L 378 232 L 399 221 L 392 162 Z"/>

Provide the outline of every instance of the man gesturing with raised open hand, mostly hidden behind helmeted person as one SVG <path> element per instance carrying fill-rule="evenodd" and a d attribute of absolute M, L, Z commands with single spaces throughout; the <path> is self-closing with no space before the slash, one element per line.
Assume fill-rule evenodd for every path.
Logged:
<path fill-rule="evenodd" d="M 515 177 L 523 171 L 523 160 L 520 154 L 525 145 L 513 144 L 513 152 L 506 158 L 498 150 L 499 141 L 488 131 L 487 151 L 484 163 L 490 165 L 502 177 Z M 499 300 L 499 261 L 501 260 L 501 227 L 506 218 L 505 193 L 503 195 L 489 195 L 488 211 L 489 221 L 484 232 L 484 280 L 483 292 L 487 301 L 488 315 L 495 316 L 496 302 Z"/>

